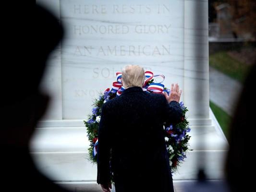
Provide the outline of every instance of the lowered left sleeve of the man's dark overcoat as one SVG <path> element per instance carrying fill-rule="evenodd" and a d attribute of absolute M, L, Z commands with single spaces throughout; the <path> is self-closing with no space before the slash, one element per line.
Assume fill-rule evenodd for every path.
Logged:
<path fill-rule="evenodd" d="M 98 130 L 98 153 L 97 153 L 97 183 L 110 182 L 110 114 L 106 105 L 102 106 L 102 113 Z"/>

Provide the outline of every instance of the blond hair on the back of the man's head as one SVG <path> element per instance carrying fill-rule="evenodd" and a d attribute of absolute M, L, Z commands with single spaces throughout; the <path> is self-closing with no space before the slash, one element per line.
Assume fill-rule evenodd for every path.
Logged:
<path fill-rule="evenodd" d="M 128 87 L 142 87 L 145 81 L 145 71 L 139 65 L 126 65 L 122 68 L 122 85 Z"/>

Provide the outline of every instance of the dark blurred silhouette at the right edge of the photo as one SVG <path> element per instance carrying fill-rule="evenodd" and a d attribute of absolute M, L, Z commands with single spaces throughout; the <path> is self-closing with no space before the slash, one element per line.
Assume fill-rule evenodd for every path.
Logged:
<path fill-rule="evenodd" d="M 242 192 L 245 188 L 254 187 L 256 97 L 253 92 L 255 92 L 255 82 L 256 63 L 251 67 L 244 81 L 230 127 L 230 148 L 225 172 L 232 192 Z"/>

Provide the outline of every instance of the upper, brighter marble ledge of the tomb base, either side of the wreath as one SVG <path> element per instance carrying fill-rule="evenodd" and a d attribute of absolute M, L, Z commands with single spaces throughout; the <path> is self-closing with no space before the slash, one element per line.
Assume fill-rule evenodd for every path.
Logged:
<path fill-rule="evenodd" d="M 194 150 L 226 150 L 223 133 L 213 125 L 192 125 L 188 133 Z M 85 127 L 37 128 L 31 141 L 32 152 L 87 152 L 90 142 Z"/>

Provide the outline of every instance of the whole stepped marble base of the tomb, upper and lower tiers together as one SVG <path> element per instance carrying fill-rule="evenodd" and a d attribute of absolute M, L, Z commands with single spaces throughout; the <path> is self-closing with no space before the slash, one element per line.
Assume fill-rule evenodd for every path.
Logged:
<path fill-rule="evenodd" d="M 40 127 L 31 141 L 31 154 L 37 167 L 54 181 L 96 181 L 97 166 L 86 156 L 89 141 L 85 127 Z M 204 167 L 208 179 L 221 179 L 228 144 L 214 125 L 192 125 L 187 158 L 173 180 L 197 178 Z"/>

